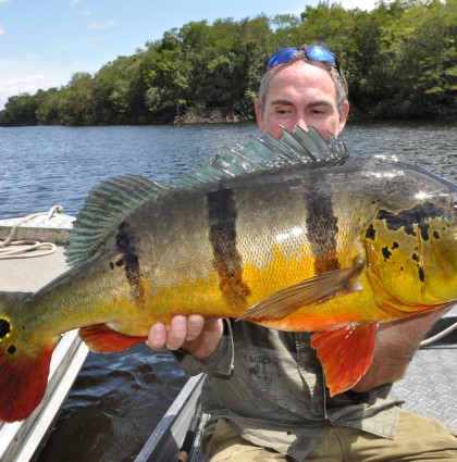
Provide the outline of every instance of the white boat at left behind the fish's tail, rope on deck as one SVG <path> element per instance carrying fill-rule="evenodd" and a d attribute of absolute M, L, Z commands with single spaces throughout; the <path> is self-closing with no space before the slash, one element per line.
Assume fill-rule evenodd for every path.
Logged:
<path fill-rule="evenodd" d="M 63 245 L 73 221 L 60 207 L 0 220 L 0 291 L 34 292 L 63 273 Z M 39 453 L 87 353 L 77 330 L 62 336 L 52 355 L 40 405 L 22 422 L 0 422 L 0 461 L 28 462 Z"/>

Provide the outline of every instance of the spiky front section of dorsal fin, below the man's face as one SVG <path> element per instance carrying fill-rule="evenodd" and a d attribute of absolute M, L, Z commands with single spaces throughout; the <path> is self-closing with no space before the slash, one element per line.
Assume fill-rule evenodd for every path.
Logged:
<path fill-rule="evenodd" d="M 227 149 L 223 155 L 217 155 L 214 160 L 202 162 L 190 172 L 173 178 L 172 185 L 188 187 L 287 165 L 330 166 L 349 157 L 344 142 L 332 134 L 325 139 L 313 127 L 309 127 L 309 132 L 297 125 L 293 132 L 281 128 L 281 139 L 269 134 L 261 138 L 252 137 L 247 145 Z"/>

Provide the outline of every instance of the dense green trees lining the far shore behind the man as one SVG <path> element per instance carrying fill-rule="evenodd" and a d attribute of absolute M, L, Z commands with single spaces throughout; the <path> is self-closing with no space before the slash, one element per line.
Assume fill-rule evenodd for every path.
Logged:
<path fill-rule="evenodd" d="M 371 12 L 337 1 L 299 16 L 192 22 L 62 88 L 8 100 L 0 125 L 155 124 L 186 114 L 252 120 L 264 61 L 321 43 L 338 57 L 356 116 L 456 117 L 457 0 L 381 0 Z"/>

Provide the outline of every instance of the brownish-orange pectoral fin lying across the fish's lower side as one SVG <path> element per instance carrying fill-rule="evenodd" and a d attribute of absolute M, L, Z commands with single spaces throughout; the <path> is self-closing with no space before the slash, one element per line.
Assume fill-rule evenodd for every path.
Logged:
<path fill-rule="evenodd" d="M 357 260 L 353 266 L 301 280 L 257 303 L 243 313 L 237 321 L 255 322 L 261 317 L 281 320 L 300 308 L 358 290 L 356 279 L 363 266 L 365 261 Z"/>

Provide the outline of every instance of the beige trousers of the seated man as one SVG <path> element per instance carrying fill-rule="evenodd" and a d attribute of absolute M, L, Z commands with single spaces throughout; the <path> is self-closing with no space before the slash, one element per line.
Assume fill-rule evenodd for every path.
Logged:
<path fill-rule="evenodd" d="M 208 462 L 293 462 L 295 459 L 243 439 L 221 419 L 203 434 Z M 394 440 L 355 428 L 328 427 L 306 462 L 457 461 L 457 438 L 442 424 L 400 410 Z M 300 461 L 301 462 L 301 461 Z"/>

